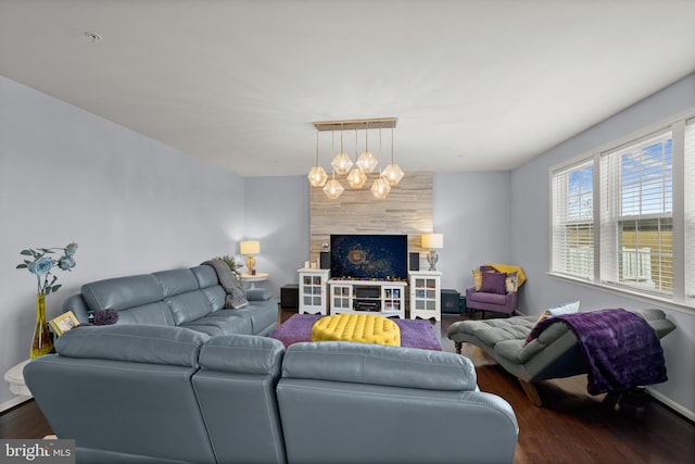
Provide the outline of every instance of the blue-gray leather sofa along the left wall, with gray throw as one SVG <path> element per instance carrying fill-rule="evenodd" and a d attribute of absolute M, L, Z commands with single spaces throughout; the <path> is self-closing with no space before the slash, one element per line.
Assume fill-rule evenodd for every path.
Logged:
<path fill-rule="evenodd" d="M 278 321 L 278 302 L 267 289 L 249 289 L 249 304 L 225 309 L 227 293 L 206 264 L 115 277 L 85 284 L 63 303 L 80 323 L 89 313 L 118 311 L 117 324 L 186 327 L 207 335 L 267 335 Z"/>

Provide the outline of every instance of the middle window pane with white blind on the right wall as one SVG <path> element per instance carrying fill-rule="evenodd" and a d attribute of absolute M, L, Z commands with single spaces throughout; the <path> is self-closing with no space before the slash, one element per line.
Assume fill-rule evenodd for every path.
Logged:
<path fill-rule="evenodd" d="M 602 280 L 673 293 L 671 131 L 601 159 Z"/>

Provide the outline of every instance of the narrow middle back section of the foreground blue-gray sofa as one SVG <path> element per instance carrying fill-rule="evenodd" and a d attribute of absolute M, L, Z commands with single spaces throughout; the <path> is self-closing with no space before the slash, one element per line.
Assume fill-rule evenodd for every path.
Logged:
<path fill-rule="evenodd" d="M 285 347 L 247 335 L 213 337 L 193 388 L 220 463 L 287 462 L 275 389 Z"/>

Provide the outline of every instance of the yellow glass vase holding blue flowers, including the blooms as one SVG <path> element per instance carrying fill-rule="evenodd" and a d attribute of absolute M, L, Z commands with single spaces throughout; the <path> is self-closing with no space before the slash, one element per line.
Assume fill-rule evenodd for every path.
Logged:
<path fill-rule="evenodd" d="M 60 259 L 54 260 L 50 256 L 59 250 L 63 252 Z M 75 251 L 77 251 L 77 243 L 70 243 L 65 248 L 28 248 L 20 252 L 21 255 L 31 256 L 33 260 L 24 260 L 23 263 L 17 264 L 16 268 L 28 269 L 36 276 L 37 283 L 36 325 L 31 340 L 31 359 L 48 354 L 53 350 L 53 341 L 46 323 L 46 296 L 56 292 L 61 285 L 55 284 L 58 276 L 53 275 L 51 269 L 59 267 L 61 271 L 71 271 L 75 267 Z"/>

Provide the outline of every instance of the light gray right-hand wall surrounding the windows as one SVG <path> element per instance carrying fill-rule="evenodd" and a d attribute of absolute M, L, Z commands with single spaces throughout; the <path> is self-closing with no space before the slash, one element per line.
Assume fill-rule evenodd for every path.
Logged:
<path fill-rule="evenodd" d="M 695 74 L 579 134 L 511 173 L 511 251 L 514 261 L 523 266 L 529 277 L 525 285 L 527 288 L 521 293 L 521 304 L 530 310 L 529 314 L 540 314 L 549 305 L 577 299 L 581 301 L 583 310 L 659 308 L 656 303 L 546 275 L 549 263 L 548 170 L 565 160 L 692 108 L 695 108 Z M 667 400 L 675 402 L 674 406 L 682 412 L 694 417 L 695 312 L 661 309 L 678 329 L 661 340 L 669 380 L 653 388 Z"/>

